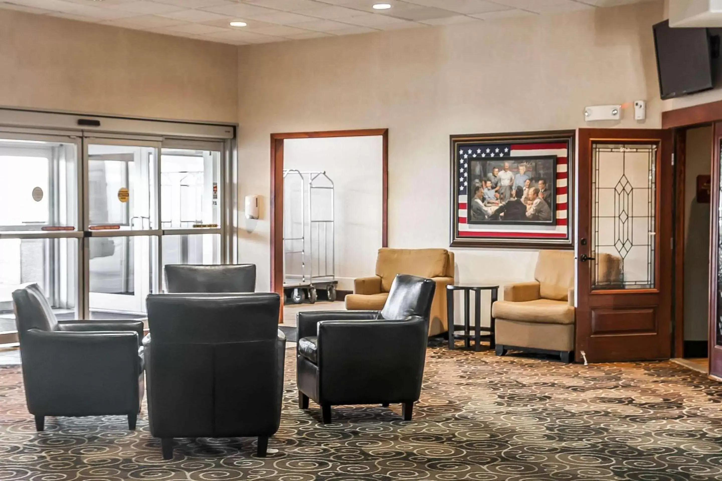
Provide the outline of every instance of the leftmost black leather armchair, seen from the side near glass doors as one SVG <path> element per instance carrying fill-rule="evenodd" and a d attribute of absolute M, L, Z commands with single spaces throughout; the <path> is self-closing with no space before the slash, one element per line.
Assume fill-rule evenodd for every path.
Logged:
<path fill-rule="evenodd" d="M 60 321 L 38 284 L 12 293 L 27 410 L 45 416 L 127 415 L 143 399 L 143 322 Z"/>

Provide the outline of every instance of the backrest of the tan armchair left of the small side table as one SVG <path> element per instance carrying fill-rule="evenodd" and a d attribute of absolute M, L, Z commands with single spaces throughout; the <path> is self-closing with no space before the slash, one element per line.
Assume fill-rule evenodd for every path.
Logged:
<path fill-rule="evenodd" d="M 420 277 L 453 277 L 453 254 L 445 249 L 390 249 L 382 247 L 376 258 L 381 291 L 390 292 L 396 274 Z"/>

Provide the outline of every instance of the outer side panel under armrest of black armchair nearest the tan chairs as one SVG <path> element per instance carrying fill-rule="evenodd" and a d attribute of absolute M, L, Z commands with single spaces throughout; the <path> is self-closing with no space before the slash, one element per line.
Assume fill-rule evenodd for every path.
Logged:
<path fill-rule="evenodd" d="M 334 402 L 410 402 L 419 397 L 428 323 L 422 317 L 318 324 L 323 397 Z"/>

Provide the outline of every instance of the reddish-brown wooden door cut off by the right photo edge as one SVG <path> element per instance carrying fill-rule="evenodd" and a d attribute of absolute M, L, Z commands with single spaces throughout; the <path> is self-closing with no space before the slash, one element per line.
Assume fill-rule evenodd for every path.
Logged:
<path fill-rule="evenodd" d="M 714 125 L 714 144 L 712 146 L 712 191 L 711 225 L 710 225 L 710 308 L 708 338 L 708 356 L 710 375 L 722 378 L 722 239 L 720 238 L 720 224 L 722 222 L 722 195 L 720 195 L 722 159 L 722 122 Z"/>

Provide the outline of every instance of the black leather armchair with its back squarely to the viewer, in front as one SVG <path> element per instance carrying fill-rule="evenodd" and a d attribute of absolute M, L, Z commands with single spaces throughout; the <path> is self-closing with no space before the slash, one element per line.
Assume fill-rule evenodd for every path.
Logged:
<path fill-rule="evenodd" d="M 281 421 L 286 337 L 278 294 L 151 294 L 143 341 L 150 433 L 164 459 L 173 438 L 258 436 L 266 456 Z"/>

